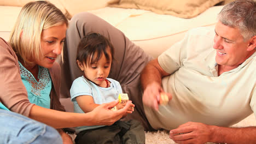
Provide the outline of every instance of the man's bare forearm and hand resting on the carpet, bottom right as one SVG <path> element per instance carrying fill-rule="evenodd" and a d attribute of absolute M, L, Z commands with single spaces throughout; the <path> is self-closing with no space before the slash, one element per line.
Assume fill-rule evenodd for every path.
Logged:
<path fill-rule="evenodd" d="M 256 143 L 256 127 L 226 128 L 188 122 L 170 131 L 176 143 Z"/>

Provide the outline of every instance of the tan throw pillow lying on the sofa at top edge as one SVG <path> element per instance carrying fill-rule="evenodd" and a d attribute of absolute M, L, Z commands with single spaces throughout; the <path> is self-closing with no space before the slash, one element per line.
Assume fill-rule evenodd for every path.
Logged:
<path fill-rule="evenodd" d="M 110 7 L 151 10 L 158 14 L 170 14 L 177 17 L 191 18 L 224 0 L 120 0 L 109 2 Z"/>

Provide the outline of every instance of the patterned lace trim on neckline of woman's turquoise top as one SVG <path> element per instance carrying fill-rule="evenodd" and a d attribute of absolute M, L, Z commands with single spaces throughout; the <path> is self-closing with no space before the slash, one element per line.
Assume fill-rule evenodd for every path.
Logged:
<path fill-rule="evenodd" d="M 34 78 L 34 76 L 19 62 L 21 76 L 30 83 L 31 93 L 41 97 L 41 91 L 51 82 L 50 74 L 47 68 L 39 66 L 38 79 L 39 82 Z"/>

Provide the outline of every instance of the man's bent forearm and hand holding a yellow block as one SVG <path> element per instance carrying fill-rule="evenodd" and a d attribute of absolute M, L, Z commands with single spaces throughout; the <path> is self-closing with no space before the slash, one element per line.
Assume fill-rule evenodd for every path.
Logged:
<path fill-rule="evenodd" d="M 158 110 L 160 93 L 164 92 L 161 87 L 162 77 L 168 76 L 165 70 L 161 68 L 158 59 L 150 61 L 141 73 L 141 85 L 143 89 L 143 103 Z M 171 94 L 167 94 L 171 99 Z"/>

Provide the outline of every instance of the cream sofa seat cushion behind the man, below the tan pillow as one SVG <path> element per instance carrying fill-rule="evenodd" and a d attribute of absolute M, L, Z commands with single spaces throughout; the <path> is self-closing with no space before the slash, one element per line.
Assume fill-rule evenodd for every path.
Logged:
<path fill-rule="evenodd" d="M 142 9 L 113 7 L 89 12 L 120 29 L 133 43 L 156 58 L 172 44 L 181 40 L 189 29 L 201 26 L 214 27 L 222 8 L 223 5 L 211 7 L 191 19 L 160 15 Z"/>

